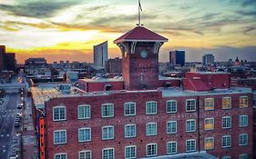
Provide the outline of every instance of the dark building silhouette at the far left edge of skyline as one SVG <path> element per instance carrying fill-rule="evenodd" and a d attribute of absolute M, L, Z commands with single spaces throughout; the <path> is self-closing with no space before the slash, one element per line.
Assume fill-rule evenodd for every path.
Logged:
<path fill-rule="evenodd" d="M 5 45 L 0 45 L 0 72 L 15 71 L 15 53 L 6 53 Z"/>

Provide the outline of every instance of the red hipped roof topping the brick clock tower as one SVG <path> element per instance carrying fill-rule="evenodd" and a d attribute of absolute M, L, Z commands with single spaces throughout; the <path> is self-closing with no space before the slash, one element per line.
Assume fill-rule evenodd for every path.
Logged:
<path fill-rule="evenodd" d="M 116 39 L 114 44 L 122 42 L 168 42 L 168 39 L 143 26 L 137 26 Z"/>

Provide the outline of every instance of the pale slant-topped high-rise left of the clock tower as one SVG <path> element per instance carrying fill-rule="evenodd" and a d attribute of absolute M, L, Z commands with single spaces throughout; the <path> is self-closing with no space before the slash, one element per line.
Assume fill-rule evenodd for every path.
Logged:
<path fill-rule="evenodd" d="M 102 69 L 108 60 L 108 41 L 93 46 L 94 66 L 97 69 Z"/>

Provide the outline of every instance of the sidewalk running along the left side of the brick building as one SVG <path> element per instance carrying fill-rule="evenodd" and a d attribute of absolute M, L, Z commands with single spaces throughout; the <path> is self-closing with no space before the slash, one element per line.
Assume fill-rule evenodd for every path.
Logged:
<path fill-rule="evenodd" d="M 26 99 L 26 108 L 24 110 L 24 129 L 22 132 L 23 159 L 37 158 L 36 132 L 33 126 L 32 108 L 30 98 Z"/>

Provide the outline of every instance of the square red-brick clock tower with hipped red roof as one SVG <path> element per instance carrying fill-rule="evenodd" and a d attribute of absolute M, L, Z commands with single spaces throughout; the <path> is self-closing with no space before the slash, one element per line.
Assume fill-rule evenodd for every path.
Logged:
<path fill-rule="evenodd" d="M 159 48 L 168 39 L 143 26 L 137 26 L 114 41 L 122 53 L 125 89 L 159 87 Z"/>

